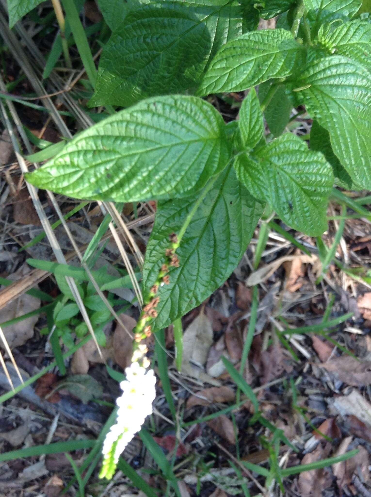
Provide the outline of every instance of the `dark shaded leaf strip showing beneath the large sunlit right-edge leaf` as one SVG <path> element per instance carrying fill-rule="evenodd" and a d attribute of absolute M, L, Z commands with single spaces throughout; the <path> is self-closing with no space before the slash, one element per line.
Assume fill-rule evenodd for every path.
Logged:
<path fill-rule="evenodd" d="M 326 161 L 331 164 L 335 175 L 335 183 L 350 190 L 358 189 L 334 154 L 328 131 L 322 128 L 317 121 L 313 121 L 312 127 L 310 128 L 310 149 L 321 152 L 325 156 Z"/>

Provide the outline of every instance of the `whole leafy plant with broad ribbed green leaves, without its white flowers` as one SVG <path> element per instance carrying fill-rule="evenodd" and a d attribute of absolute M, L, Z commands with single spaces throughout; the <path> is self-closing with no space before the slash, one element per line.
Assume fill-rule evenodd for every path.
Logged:
<path fill-rule="evenodd" d="M 10 23 L 38 3 L 19 9 L 8 0 Z M 113 32 L 97 72 L 74 2 L 63 5 L 86 86 L 94 87 L 90 105 L 105 105 L 113 115 L 58 148 L 26 179 L 82 199 L 157 200 L 143 269 L 146 305 L 135 330 L 140 343 L 171 323 L 181 333 L 178 320 L 230 275 L 265 209 L 265 219 L 274 211 L 288 226 L 320 237 L 330 195 L 352 202 L 334 183 L 371 189 L 371 23 L 362 0 L 98 3 Z M 277 15 L 276 29 L 257 30 L 260 17 Z M 225 124 L 212 103 L 236 91 L 247 92 L 239 119 Z M 114 113 L 111 105 L 128 108 Z M 309 149 L 284 133 L 299 106 L 313 119 Z M 350 206 L 369 215 L 361 204 Z M 324 269 L 343 229 L 344 222 L 321 254 Z M 60 313 L 76 307 L 58 310 L 59 328 L 70 322 Z M 251 396 L 240 375 L 231 370 L 231 376 Z M 265 422 L 258 405 L 256 416 Z M 281 481 L 283 472 L 277 475 Z"/>

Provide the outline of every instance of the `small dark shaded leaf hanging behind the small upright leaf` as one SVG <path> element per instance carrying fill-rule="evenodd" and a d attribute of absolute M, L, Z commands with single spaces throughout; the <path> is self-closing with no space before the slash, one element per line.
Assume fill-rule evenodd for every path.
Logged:
<path fill-rule="evenodd" d="M 271 83 L 266 82 L 259 86 L 259 100 L 263 101 Z M 293 104 L 289 100 L 285 92 L 285 86 L 278 86 L 272 100 L 267 105 L 264 111 L 265 120 L 267 121 L 270 132 L 273 136 L 282 135 L 290 120 Z"/>

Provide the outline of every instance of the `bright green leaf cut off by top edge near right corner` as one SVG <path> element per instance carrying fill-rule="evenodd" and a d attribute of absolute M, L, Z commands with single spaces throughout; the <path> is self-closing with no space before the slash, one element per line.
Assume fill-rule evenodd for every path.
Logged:
<path fill-rule="evenodd" d="M 312 26 L 313 34 L 324 22 L 333 19 L 351 19 L 361 7 L 362 0 L 304 0 L 307 19 Z"/>

